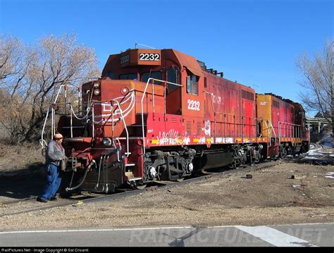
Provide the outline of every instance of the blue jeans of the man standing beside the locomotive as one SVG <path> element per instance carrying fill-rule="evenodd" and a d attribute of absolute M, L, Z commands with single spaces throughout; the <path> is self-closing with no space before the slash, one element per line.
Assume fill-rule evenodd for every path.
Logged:
<path fill-rule="evenodd" d="M 51 199 L 56 196 L 59 186 L 61 185 L 61 176 L 58 167 L 54 164 L 47 164 L 47 185 L 45 185 L 44 193 L 40 198 Z"/>

